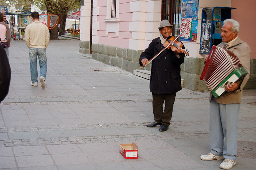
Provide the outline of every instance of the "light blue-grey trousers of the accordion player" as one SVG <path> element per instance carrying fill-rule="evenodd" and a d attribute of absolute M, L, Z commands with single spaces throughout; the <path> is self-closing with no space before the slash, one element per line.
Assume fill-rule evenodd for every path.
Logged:
<path fill-rule="evenodd" d="M 236 160 L 236 140 L 240 104 L 219 104 L 212 97 L 210 103 L 210 138 L 212 153 Z M 225 138 L 225 142 L 223 141 Z"/>

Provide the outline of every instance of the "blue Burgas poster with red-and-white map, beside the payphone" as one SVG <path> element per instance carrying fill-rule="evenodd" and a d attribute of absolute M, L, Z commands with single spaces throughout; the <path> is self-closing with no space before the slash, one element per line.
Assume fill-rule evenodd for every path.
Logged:
<path fill-rule="evenodd" d="M 198 1 L 181 1 L 180 41 L 196 42 L 198 23 Z"/>

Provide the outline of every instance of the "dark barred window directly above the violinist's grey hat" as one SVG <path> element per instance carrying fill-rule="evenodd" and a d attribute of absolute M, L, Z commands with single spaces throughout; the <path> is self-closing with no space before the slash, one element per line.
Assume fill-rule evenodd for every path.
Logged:
<path fill-rule="evenodd" d="M 180 34 L 181 0 L 162 0 L 161 20 L 167 19 L 173 25 L 172 35 Z"/>

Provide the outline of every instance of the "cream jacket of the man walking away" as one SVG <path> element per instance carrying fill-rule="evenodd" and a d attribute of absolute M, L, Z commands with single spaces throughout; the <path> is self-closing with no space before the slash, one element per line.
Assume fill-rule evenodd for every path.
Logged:
<path fill-rule="evenodd" d="M 47 48 L 50 40 L 48 27 L 39 21 L 34 21 L 25 29 L 25 41 L 28 46 L 34 48 Z"/>

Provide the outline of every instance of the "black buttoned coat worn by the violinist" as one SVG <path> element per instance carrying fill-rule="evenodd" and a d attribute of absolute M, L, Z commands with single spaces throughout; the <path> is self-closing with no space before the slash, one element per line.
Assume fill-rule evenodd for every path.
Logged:
<path fill-rule="evenodd" d="M 148 48 L 140 55 L 140 66 L 142 66 L 143 58 L 150 60 L 163 48 L 161 48 L 160 37 L 152 40 Z M 182 48 L 185 49 L 184 45 Z M 184 57 L 184 53 L 177 58 L 171 49 L 165 49 L 152 61 L 149 84 L 152 93 L 172 94 L 181 90 L 180 65 L 184 62 Z"/>

